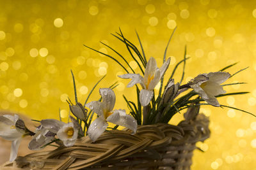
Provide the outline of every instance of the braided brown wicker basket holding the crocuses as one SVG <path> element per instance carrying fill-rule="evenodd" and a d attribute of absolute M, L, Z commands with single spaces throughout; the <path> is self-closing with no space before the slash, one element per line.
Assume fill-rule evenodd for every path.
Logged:
<path fill-rule="evenodd" d="M 108 131 L 95 143 L 84 137 L 70 148 L 18 157 L 1 169 L 190 169 L 195 143 L 209 138 L 202 114 L 179 125 L 142 125 L 138 132 Z"/>

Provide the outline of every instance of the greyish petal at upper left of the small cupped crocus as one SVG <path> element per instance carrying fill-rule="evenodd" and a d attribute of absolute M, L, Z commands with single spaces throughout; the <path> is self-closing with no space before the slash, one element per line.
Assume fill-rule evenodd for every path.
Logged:
<path fill-rule="evenodd" d="M 57 133 L 59 129 L 63 125 L 65 125 L 64 122 L 60 122 L 55 119 L 44 119 L 44 120 L 41 120 L 40 123 L 45 129 L 49 129 L 51 132 L 54 132 L 54 133 Z"/>

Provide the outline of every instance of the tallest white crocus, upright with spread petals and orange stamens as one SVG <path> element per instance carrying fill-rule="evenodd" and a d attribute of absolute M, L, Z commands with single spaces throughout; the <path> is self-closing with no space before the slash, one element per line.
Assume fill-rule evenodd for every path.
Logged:
<path fill-rule="evenodd" d="M 150 57 L 145 68 L 144 77 L 142 77 L 140 74 L 123 74 L 118 77 L 132 79 L 127 87 L 132 87 L 136 83 L 140 83 L 141 87 L 143 88 L 142 90 L 140 90 L 140 103 L 142 106 L 147 106 L 150 103 L 152 97 L 154 96 L 154 88 L 163 77 L 169 64 L 170 58 L 167 59 L 166 62 L 164 62 L 162 67 L 158 68 L 156 64 L 156 59 Z"/>

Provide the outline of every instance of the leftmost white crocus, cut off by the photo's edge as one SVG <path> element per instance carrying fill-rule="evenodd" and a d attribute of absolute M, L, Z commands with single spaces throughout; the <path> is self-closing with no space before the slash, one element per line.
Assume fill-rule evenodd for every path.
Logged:
<path fill-rule="evenodd" d="M 17 131 L 15 127 L 17 120 L 19 120 L 18 115 L 3 115 L 0 117 L 0 136 L 8 141 L 12 141 L 10 162 L 16 159 L 20 141 L 24 135 Z"/>

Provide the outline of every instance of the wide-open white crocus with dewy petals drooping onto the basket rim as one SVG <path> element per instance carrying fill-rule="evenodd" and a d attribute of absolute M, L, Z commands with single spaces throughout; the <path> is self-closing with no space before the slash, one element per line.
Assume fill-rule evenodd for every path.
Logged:
<path fill-rule="evenodd" d="M 100 89 L 100 96 L 102 96 L 102 102 L 92 101 L 86 104 L 86 107 L 99 115 L 88 128 L 88 136 L 92 141 L 96 141 L 106 130 L 108 122 L 127 127 L 135 134 L 137 131 L 136 120 L 130 115 L 127 115 L 125 110 L 113 110 L 116 101 L 113 90 L 108 88 Z"/>

